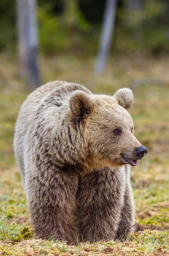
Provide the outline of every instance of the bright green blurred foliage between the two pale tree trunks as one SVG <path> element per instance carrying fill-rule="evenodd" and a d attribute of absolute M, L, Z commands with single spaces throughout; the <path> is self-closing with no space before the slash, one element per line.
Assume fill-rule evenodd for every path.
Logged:
<path fill-rule="evenodd" d="M 75 2 L 61 16 L 55 16 L 43 7 L 38 8 L 40 51 L 46 55 L 60 52 L 89 51 L 93 43 L 86 45 L 91 26 L 84 20 Z M 94 40 L 95 41 L 95 40 Z"/>

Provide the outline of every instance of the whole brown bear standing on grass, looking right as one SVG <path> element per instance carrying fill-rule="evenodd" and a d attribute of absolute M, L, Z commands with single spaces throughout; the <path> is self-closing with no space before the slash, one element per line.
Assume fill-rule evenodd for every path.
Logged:
<path fill-rule="evenodd" d="M 129 88 L 95 95 L 65 81 L 27 97 L 14 151 L 36 237 L 94 242 L 133 231 L 129 165 L 147 150 L 133 135 L 132 102 Z"/>

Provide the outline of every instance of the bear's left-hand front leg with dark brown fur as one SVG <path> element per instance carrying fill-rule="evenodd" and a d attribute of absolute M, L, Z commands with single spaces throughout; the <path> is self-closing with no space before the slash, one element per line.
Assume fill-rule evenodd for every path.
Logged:
<path fill-rule="evenodd" d="M 75 196 L 78 175 L 67 169 L 53 169 L 27 180 L 31 224 L 42 239 L 74 241 Z"/>

